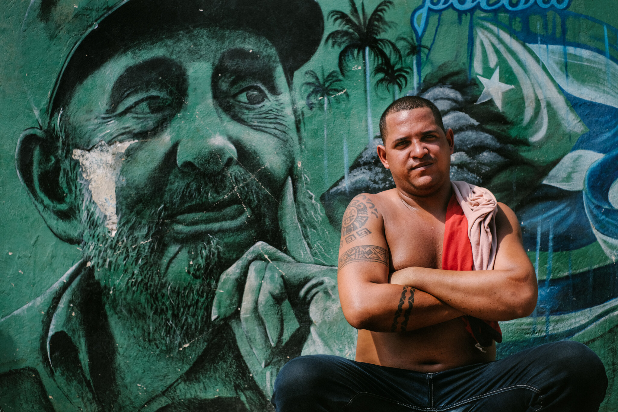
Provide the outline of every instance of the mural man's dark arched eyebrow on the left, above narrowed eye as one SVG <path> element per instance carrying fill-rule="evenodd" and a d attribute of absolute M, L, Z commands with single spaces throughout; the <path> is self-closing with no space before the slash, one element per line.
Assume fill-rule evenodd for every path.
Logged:
<path fill-rule="evenodd" d="M 112 86 L 108 112 L 114 111 L 114 107 L 132 93 L 153 88 L 184 97 L 188 88 L 185 69 L 167 57 L 155 57 L 127 67 Z"/>

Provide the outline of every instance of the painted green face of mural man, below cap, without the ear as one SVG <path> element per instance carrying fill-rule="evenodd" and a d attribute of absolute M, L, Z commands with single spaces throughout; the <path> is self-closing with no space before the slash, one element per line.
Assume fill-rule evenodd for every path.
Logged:
<path fill-rule="evenodd" d="M 114 212 L 119 233 L 158 225 L 162 260 L 187 266 L 213 238 L 226 263 L 281 241 L 277 203 L 298 137 L 264 38 L 199 28 L 139 43 L 77 86 L 61 123 L 108 229 Z"/>

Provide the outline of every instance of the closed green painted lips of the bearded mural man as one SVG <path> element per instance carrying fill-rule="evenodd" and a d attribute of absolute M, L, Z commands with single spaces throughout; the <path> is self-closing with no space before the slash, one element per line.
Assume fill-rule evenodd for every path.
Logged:
<path fill-rule="evenodd" d="M 213 204 L 196 204 L 182 209 L 169 219 L 169 229 L 180 235 L 217 233 L 237 230 L 247 222 L 252 211 L 248 206 L 232 204 L 217 208 Z"/>

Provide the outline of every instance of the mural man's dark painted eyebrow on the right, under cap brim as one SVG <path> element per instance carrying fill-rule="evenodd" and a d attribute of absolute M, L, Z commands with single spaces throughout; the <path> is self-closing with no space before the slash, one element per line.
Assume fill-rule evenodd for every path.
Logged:
<path fill-rule="evenodd" d="M 274 72 L 277 64 L 274 59 L 258 50 L 230 49 L 223 53 L 213 71 L 213 78 L 217 80 L 218 74 L 229 80 L 229 86 L 234 87 L 243 80 L 259 80 L 274 95 L 280 95 L 277 88 Z"/>

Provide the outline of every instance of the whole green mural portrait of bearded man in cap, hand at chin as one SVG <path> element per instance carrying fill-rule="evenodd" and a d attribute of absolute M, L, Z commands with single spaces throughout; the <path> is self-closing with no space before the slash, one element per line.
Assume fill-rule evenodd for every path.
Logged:
<path fill-rule="evenodd" d="M 48 122 L 20 138 L 23 184 L 83 251 L 36 308 L 0 319 L 13 333 L 47 313 L 44 362 L 19 369 L 46 407 L 268 410 L 279 368 L 319 346 L 316 305 L 339 308 L 335 269 L 306 240 L 319 225 L 290 86 L 320 43 L 320 7 L 224 3 L 104 14 L 64 64 Z M 15 382 L 2 372 L 0 389 Z M 49 403 L 27 392 L 9 405 Z"/>

